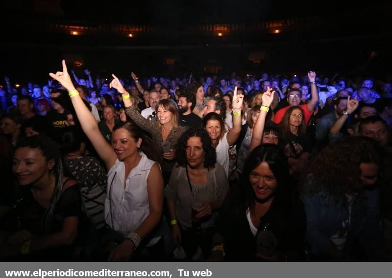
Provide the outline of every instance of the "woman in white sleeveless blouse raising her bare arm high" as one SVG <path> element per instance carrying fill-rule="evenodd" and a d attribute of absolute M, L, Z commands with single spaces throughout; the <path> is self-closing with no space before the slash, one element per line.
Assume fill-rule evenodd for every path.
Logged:
<path fill-rule="evenodd" d="M 137 251 L 143 247 L 149 251 L 148 247 L 161 242 L 161 234 L 152 230 L 163 223 L 164 187 L 159 165 L 152 160 L 153 144 L 148 144 L 139 128 L 125 122 L 113 129 L 111 146 L 73 87 L 65 61 L 63 71 L 49 75 L 68 90 L 83 131 L 109 170 L 105 221 L 113 230 L 113 239 L 119 243 L 111 251 L 109 260 L 129 260 L 138 247 Z M 123 98 L 125 102 L 129 94 Z"/>

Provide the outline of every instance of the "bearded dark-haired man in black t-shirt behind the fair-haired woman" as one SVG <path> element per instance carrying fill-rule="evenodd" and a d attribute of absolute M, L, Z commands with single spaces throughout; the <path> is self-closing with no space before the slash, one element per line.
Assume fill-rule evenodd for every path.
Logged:
<path fill-rule="evenodd" d="M 181 126 L 201 127 L 201 118 L 192 113 L 195 108 L 196 98 L 193 94 L 181 93 L 178 96 L 178 114 L 180 115 L 179 124 Z"/>

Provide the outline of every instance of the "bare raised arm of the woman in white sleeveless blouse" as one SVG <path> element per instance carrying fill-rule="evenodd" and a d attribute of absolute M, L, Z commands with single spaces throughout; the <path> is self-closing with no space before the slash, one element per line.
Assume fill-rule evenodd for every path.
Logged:
<path fill-rule="evenodd" d="M 112 146 L 110 146 L 106 139 L 98 129 L 98 124 L 93 114 L 84 104 L 82 98 L 73 86 L 71 76 L 68 74 L 67 66 L 63 60 L 63 71 L 57 71 L 56 74 L 49 73 L 50 77 L 56 79 L 62 86 L 64 86 L 70 93 L 73 108 L 76 116 L 80 121 L 80 125 L 88 139 L 90 139 L 99 157 L 105 162 L 106 168 L 109 170 L 116 162 L 117 155 Z"/>

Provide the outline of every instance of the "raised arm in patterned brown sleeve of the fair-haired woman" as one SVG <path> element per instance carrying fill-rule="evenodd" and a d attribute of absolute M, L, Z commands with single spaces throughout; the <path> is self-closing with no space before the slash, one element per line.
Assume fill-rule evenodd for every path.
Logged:
<path fill-rule="evenodd" d="M 143 117 L 136 108 L 136 105 L 133 105 L 132 98 L 129 93 L 125 91 L 123 85 L 121 84 L 119 78 L 116 75 L 112 74 L 113 80 L 110 82 L 109 87 L 117 89 L 123 95 L 123 102 L 125 106 L 125 113 L 128 115 L 131 120 L 139 126 L 141 129 L 148 131 L 151 134 L 154 134 L 156 130 L 156 123 L 150 120 L 147 120 Z"/>

